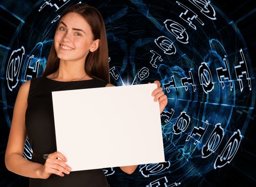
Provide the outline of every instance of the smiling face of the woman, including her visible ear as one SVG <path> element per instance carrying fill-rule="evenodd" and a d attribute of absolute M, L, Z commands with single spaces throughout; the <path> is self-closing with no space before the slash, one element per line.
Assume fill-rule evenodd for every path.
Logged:
<path fill-rule="evenodd" d="M 74 12 L 67 13 L 61 18 L 54 37 L 57 56 L 66 61 L 85 61 L 88 52 L 98 48 L 98 40 L 93 41 L 93 37 L 86 19 Z"/>

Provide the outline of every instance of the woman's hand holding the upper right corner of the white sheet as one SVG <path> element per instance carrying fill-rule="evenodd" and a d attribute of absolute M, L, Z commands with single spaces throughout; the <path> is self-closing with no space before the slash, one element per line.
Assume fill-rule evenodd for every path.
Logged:
<path fill-rule="evenodd" d="M 162 111 L 164 111 L 164 109 L 168 103 L 168 99 L 167 99 L 167 96 L 165 95 L 164 91 L 162 91 L 162 88 L 160 87 L 160 82 L 154 81 L 154 83 L 157 84 L 157 88 L 154 89 L 154 91 L 152 92 L 152 96 L 154 96 L 155 102 L 158 100 L 159 107 L 160 107 L 160 114 L 161 114 Z"/>

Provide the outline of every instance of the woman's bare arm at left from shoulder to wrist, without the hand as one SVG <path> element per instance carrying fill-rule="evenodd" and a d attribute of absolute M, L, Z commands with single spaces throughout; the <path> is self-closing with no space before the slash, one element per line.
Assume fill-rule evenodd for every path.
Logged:
<path fill-rule="evenodd" d="M 5 166 L 13 173 L 39 178 L 40 163 L 28 161 L 22 155 L 26 140 L 25 113 L 30 81 L 21 85 L 13 110 L 12 124 L 5 151 Z"/>

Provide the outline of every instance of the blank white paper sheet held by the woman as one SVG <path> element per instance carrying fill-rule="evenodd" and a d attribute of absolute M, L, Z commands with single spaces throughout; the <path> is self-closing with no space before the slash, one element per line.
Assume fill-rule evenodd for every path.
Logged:
<path fill-rule="evenodd" d="M 156 88 L 52 92 L 57 150 L 72 171 L 165 162 Z"/>

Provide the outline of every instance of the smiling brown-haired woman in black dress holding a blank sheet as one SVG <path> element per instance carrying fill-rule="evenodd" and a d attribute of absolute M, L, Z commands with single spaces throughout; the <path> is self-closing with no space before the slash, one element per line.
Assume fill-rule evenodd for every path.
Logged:
<path fill-rule="evenodd" d="M 102 169 L 71 172 L 65 155 L 56 151 L 51 98 L 52 91 L 113 86 L 108 71 L 102 16 L 86 4 L 69 7 L 59 19 L 43 76 L 25 82 L 19 89 L 5 153 L 7 169 L 29 177 L 30 186 L 109 186 Z M 152 96 L 162 112 L 167 97 L 159 81 L 155 83 L 158 88 Z M 27 136 L 32 161 L 22 157 Z M 136 167 L 120 168 L 131 174 Z"/>

